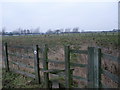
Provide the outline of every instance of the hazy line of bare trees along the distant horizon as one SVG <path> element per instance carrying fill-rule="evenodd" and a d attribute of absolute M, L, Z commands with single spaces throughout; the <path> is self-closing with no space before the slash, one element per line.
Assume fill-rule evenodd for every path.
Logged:
<path fill-rule="evenodd" d="M 79 30 L 79 27 L 75 27 L 73 29 L 66 28 L 66 29 L 56 29 L 56 30 L 47 30 L 45 33 L 41 33 L 39 27 L 36 29 L 21 29 L 18 28 L 16 30 L 13 30 L 12 32 L 6 32 L 5 28 L 2 28 L 2 31 L 0 32 L 0 35 L 39 35 L 39 34 L 63 34 L 63 33 L 96 33 L 93 31 L 84 31 Z M 102 33 L 107 34 L 107 32 L 120 32 L 119 29 L 113 29 L 112 31 L 102 31 Z"/>

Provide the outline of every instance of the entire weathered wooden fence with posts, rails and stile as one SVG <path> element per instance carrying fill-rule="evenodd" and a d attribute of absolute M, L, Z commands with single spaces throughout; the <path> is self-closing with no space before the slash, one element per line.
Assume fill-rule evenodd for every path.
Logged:
<path fill-rule="evenodd" d="M 8 46 L 7 43 L 4 44 L 4 62 L 5 62 L 5 68 L 6 71 L 14 71 L 17 73 L 20 73 L 22 75 L 26 75 L 32 78 L 36 79 L 37 83 L 42 83 L 41 81 L 41 76 L 40 76 L 40 71 L 44 73 L 44 82 L 45 82 L 45 87 L 50 88 L 50 80 L 49 80 L 49 74 L 57 74 L 65 79 L 65 87 L 66 88 L 71 88 L 73 87 L 73 78 L 78 79 L 81 81 L 85 81 L 88 83 L 87 87 L 88 88 L 105 88 L 104 83 L 101 82 L 101 74 L 106 75 L 109 77 L 112 81 L 116 83 L 120 83 L 120 77 L 118 77 L 115 74 L 110 73 L 107 70 L 104 70 L 101 68 L 101 60 L 102 58 L 105 58 L 105 60 L 112 60 L 113 62 L 118 62 L 120 63 L 120 57 L 115 57 L 106 53 L 102 53 L 100 48 L 95 48 L 95 47 L 88 47 L 87 50 L 74 50 L 70 49 L 69 46 L 64 47 L 65 51 L 65 60 L 64 61 L 59 61 L 59 60 L 51 60 L 48 58 L 48 46 L 44 45 L 44 48 L 39 48 L 38 45 L 35 45 L 33 47 L 22 47 L 22 46 L 9 46 L 10 48 L 22 48 L 22 49 L 31 49 L 31 52 L 33 52 L 34 56 L 27 56 L 27 55 L 21 55 L 21 54 L 16 54 L 12 52 L 8 52 Z M 43 57 L 39 56 L 39 52 L 42 52 Z M 78 53 L 78 54 L 86 54 L 88 55 L 88 64 L 79 64 L 79 63 L 73 63 L 70 62 L 70 53 Z M 21 63 L 21 62 L 15 62 L 15 61 L 9 61 L 9 56 L 14 56 L 18 58 L 26 58 L 26 59 L 31 59 L 34 60 L 34 67 Z M 25 67 L 25 68 L 31 68 L 34 69 L 35 74 L 30 74 L 27 72 L 19 71 L 19 70 L 14 70 L 9 68 L 9 63 Z M 40 68 L 39 65 L 40 63 L 43 64 L 43 68 Z M 60 69 L 49 69 L 48 63 L 55 63 L 55 64 L 64 64 L 65 69 L 60 70 Z M 75 76 L 73 75 L 74 69 L 71 69 L 70 67 L 82 67 L 82 68 L 87 68 L 87 78 L 83 78 L 80 76 Z M 54 81 L 54 80 L 53 80 Z M 52 81 L 52 82 L 53 82 Z M 106 86 L 108 87 L 108 86 Z"/>

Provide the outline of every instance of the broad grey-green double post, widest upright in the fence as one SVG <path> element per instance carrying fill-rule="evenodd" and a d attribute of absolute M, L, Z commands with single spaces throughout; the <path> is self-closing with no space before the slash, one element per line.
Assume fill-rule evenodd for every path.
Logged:
<path fill-rule="evenodd" d="M 88 47 L 88 88 L 101 87 L 101 49 Z"/>

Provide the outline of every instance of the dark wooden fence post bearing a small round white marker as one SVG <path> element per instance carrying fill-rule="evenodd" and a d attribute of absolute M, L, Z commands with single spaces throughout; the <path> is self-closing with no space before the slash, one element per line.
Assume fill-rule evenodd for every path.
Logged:
<path fill-rule="evenodd" d="M 35 69 L 35 77 L 36 82 L 40 84 L 40 68 L 39 68 L 39 53 L 38 53 L 38 45 L 34 46 L 34 69 Z"/>

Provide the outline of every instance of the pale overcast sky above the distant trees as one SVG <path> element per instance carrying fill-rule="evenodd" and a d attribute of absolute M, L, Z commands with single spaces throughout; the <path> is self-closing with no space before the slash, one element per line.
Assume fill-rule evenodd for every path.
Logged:
<path fill-rule="evenodd" d="M 4 2 L 2 27 L 48 29 L 74 28 L 112 30 L 118 28 L 117 2 Z"/>

